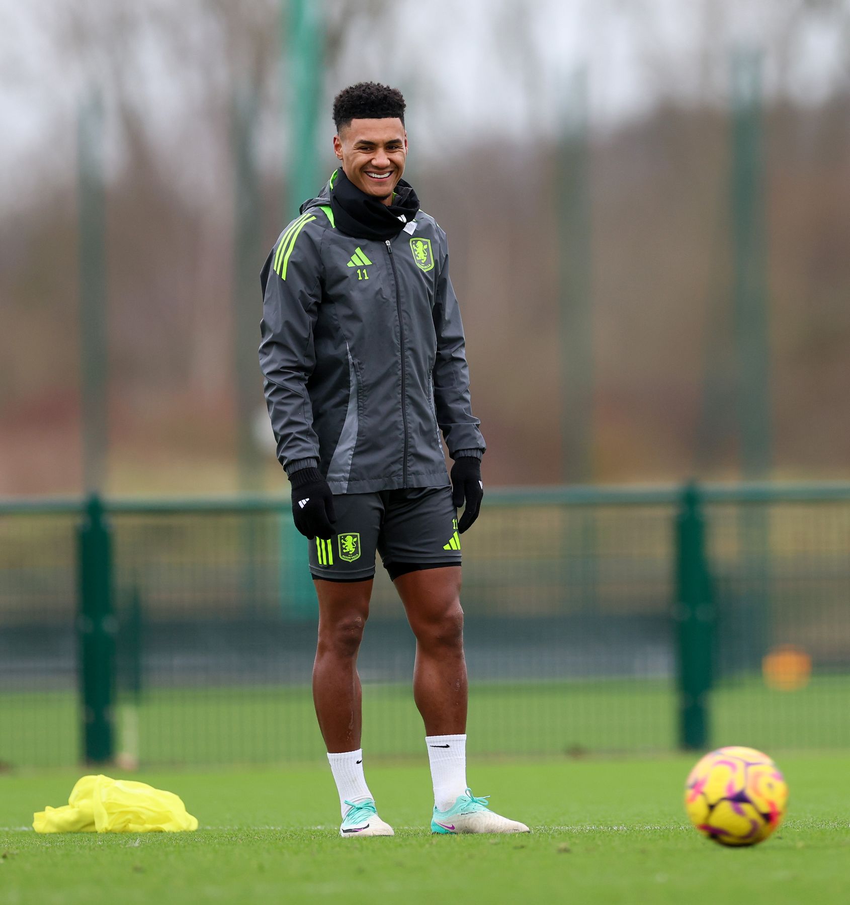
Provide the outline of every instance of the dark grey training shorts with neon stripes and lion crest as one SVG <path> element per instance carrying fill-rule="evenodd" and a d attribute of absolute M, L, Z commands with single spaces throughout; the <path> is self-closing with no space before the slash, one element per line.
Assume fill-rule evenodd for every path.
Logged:
<path fill-rule="evenodd" d="M 451 487 L 339 493 L 333 508 L 337 533 L 329 540 L 308 541 L 314 578 L 371 578 L 376 550 L 390 576 L 394 564 L 461 564 Z"/>

